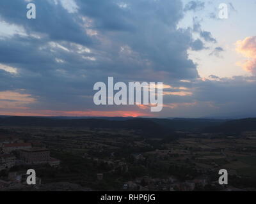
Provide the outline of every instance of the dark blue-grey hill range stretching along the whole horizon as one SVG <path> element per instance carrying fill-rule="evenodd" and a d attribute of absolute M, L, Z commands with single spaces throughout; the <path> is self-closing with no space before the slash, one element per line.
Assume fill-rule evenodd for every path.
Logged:
<path fill-rule="evenodd" d="M 240 133 L 256 131 L 256 118 L 227 119 L 156 119 L 132 117 L 18 117 L 0 116 L 0 126 L 38 126 L 70 128 L 125 128 L 147 135 L 166 135 L 174 131 L 204 133 Z"/>

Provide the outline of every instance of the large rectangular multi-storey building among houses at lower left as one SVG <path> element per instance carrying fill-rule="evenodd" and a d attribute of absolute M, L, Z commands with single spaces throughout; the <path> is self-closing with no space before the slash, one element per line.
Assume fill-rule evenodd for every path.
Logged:
<path fill-rule="evenodd" d="M 20 150 L 20 159 L 26 164 L 43 164 L 50 161 L 50 150 L 31 148 Z"/>

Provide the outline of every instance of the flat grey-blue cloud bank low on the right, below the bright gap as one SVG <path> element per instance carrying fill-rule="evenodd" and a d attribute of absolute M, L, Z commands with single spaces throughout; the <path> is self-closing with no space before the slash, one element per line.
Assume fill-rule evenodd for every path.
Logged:
<path fill-rule="evenodd" d="M 255 77 L 211 75 L 208 80 L 193 80 L 188 85 L 193 92 L 191 96 L 164 96 L 165 104 L 177 105 L 177 108 L 164 108 L 162 116 L 255 117 L 255 86 Z"/>

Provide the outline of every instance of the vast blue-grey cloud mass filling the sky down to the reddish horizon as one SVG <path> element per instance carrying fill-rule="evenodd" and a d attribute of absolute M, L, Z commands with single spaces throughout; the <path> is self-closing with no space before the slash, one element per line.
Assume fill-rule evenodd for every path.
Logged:
<path fill-rule="evenodd" d="M 188 50 L 216 39 L 198 20 L 178 28 L 182 1 L 76 0 L 72 10 L 68 1 L 54 2 L 36 1 L 36 20 L 28 20 L 24 1 L 0 1 L 0 114 L 153 116 L 144 106 L 95 106 L 93 84 L 108 77 L 164 82 L 156 117 L 256 113 L 253 78 L 199 78 Z"/>

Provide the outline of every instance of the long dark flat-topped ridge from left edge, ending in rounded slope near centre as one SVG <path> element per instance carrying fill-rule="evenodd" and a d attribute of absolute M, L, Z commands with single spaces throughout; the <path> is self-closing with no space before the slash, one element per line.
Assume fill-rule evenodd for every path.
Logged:
<path fill-rule="evenodd" d="M 172 132 L 169 127 L 147 119 L 104 120 L 4 117 L 0 118 L 0 126 L 134 129 L 140 131 L 141 135 L 156 135 L 157 137 Z"/>

